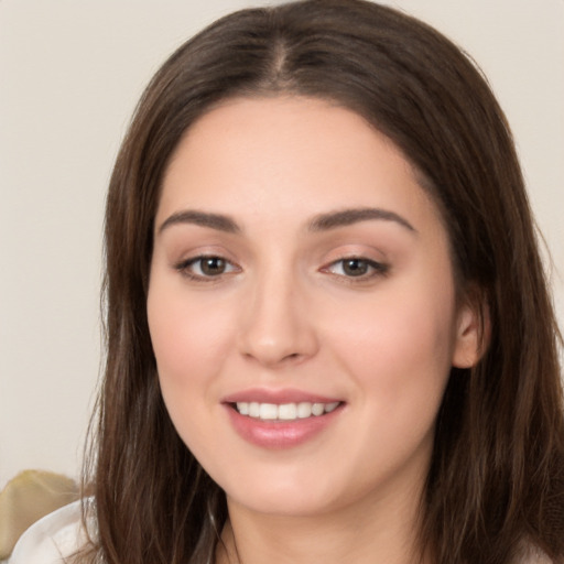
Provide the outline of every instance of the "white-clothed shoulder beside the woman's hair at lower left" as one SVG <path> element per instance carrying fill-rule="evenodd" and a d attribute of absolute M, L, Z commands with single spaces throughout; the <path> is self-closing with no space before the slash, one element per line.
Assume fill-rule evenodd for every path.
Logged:
<path fill-rule="evenodd" d="M 88 500 L 87 503 L 91 501 Z M 57 509 L 36 521 L 20 538 L 8 564 L 63 564 L 87 542 L 82 501 Z M 90 529 L 89 519 L 88 529 Z M 90 533 L 93 531 L 89 531 Z"/>

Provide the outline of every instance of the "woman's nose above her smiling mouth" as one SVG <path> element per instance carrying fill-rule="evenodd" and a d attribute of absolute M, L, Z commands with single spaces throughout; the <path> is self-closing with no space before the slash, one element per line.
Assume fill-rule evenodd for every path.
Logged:
<path fill-rule="evenodd" d="M 269 368 L 299 364 L 318 349 L 308 300 L 297 281 L 270 272 L 241 304 L 240 352 Z"/>

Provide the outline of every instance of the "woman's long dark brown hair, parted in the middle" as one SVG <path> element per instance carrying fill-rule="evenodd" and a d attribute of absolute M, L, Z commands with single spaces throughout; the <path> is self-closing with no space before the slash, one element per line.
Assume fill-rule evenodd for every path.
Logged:
<path fill-rule="evenodd" d="M 509 127 L 456 46 L 362 0 L 226 17 L 169 58 L 137 108 L 107 200 L 93 553 L 108 564 L 213 562 L 225 495 L 173 429 L 149 336 L 153 221 L 167 162 L 194 121 L 227 98 L 278 94 L 333 100 L 403 151 L 442 212 L 459 291 L 489 318 L 481 361 L 453 370 L 438 414 L 422 551 L 438 564 L 502 564 L 527 541 L 560 562 L 560 337 Z"/>

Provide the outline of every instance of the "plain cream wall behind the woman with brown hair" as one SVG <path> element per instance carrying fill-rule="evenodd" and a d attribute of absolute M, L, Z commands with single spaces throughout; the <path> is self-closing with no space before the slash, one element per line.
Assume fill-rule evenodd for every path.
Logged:
<path fill-rule="evenodd" d="M 398 0 L 465 47 L 513 128 L 564 319 L 564 1 Z M 101 227 L 142 88 L 243 0 L 0 0 L 0 488 L 77 476 L 100 369 Z"/>

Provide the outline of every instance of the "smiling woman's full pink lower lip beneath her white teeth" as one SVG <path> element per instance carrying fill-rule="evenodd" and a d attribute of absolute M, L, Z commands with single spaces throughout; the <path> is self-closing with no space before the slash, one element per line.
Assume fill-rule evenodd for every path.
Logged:
<path fill-rule="evenodd" d="M 235 431 L 245 441 L 263 448 L 291 448 L 313 440 L 330 425 L 341 412 L 343 404 L 330 413 L 292 421 L 263 421 L 241 415 L 226 404 Z"/>

